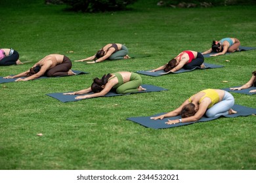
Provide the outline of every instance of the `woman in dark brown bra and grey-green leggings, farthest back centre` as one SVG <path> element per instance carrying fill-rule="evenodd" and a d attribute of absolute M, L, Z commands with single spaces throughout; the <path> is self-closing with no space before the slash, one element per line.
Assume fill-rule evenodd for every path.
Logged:
<path fill-rule="evenodd" d="M 75 61 L 87 61 L 87 63 L 97 63 L 106 59 L 128 59 L 128 49 L 125 45 L 119 43 L 106 44 L 103 48 L 98 50 L 94 56 Z M 90 61 L 93 60 L 93 61 Z"/>

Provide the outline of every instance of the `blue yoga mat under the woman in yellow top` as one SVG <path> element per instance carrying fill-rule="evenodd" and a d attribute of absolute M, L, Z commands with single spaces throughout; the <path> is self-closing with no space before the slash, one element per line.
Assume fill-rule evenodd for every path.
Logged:
<path fill-rule="evenodd" d="M 228 114 L 224 117 L 234 118 L 234 117 L 238 117 L 238 116 L 249 116 L 251 114 L 256 114 L 256 108 L 245 107 L 242 105 L 234 105 L 232 107 L 232 109 L 236 110 L 237 113 L 236 114 Z M 127 120 L 130 120 L 137 124 L 143 125 L 144 127 L 150 127 L 153 129 L 163 129 L 163 128 L 170 128 L 170 127 L 179 127 L 181 125 L 194 124 L 196 122 L 208 122 L 208 121 L 215 120 L 215 119 L 221 117 L 221 116 L 219 116 L 219 117 L 207 118 L 207 117 L 203 116 L 200 120 L 198 120 L 196 122 L 178 123 L 178 124 L 172 124 L 172 125 L 167 125 L 167 124 L 165 124 L 165 122 L 167 122 L 168 120 L 175 120 L 177 118 L 181 118 L 181 116 L 175 116 L 175 117 L 171 117 L 171 118 L 163 118 L 163 120 L 150 119 L 150 117 L 160 116 L 161 114 L 165 114 L 165 112 L 156 114 L 156 115 L 152 115 L 152 116 L 146 116 L 146 117 L 127 118 Z"/>

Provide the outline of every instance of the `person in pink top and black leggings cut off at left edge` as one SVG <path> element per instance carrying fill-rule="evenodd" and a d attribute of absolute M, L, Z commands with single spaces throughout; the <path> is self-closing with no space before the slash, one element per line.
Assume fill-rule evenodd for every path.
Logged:
<path fill-rule="evenodd" d="M 1 48 L 0 49 L 0 65 L 9 66 L 9 65 L 20 65 L 22 62 L 18 59 L 20 55 L 16 50 L 12 48 Z"/>

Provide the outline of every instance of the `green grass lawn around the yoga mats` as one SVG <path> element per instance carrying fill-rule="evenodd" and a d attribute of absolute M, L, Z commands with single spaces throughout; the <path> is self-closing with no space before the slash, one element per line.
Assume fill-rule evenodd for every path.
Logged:
<path fill-rule="evenodd" d="M 90 74 L 0 84 L 0 169 L 256 168 L 255 116 L 160 130 L 126 120 L 169 112 L 205 88 L 244 84 L 256 69 L 255 50 L 205 59 L 224 65 L 220 69 L 141 75 L 144 84 L 166 92 L 71 103 L 45 95 L 87 88 L 105 73 L 154 69 L 182 50 L 202 52 L 223 37 L 255 47 L 255 6 L 181 9 L 140 0 L 127 11 L 83 14 L 39 0 L 13 2 L 0 2 L 0 48 L 12 47 L 21 61 L 32 62 L 0 67 L 0 76 L 26 71 L 47 54 L 86 58 L 109 42 L 150 57 L 92 65 L 74 62 L 73 69 Z M 255 95 L 232 94 L 236 104 L 255 107 Z"/>

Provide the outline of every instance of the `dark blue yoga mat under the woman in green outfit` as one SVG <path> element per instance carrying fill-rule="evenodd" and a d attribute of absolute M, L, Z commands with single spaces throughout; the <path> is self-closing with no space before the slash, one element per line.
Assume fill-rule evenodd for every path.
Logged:
<path fill-rule="evenodd" d="M 150 85 L 150 84 L 142 84 L 142 87 L 146 88 L 146 90 L 144 90 L 142 92 L 137 92 L 137 93 L 160 92 L 160 91 L 167 90 L 165 88 L 161 88 L 161 87 Z M 64 92 L 64 93 L 68 93 L 68 92 Z M 83 95 L 89 95 L 89 94 L 91 94 L 91 93 L 87 93 L 87 94 L 83 94 Z M 129 94 L 131 94 L 131 93 L 117 94 L 116 92 L 110 91 L 102 97 L 113 97 L 113 96 L 119 96 L 119 95 L 129 95 Z M 63 93 L 49 93 L 49 94 L 46 94 L 46 95 L 48 95 L 50 97 L 53 97 L 54 99 L 57 99 L 57 100 L 61 101 L 62 103 L 83 100 L 83 99 L 75 99 L 75 97 L 77 97 L 79 95 L 63 95 Z M 89 98 L 89 99 L 92 99 L 92 98 Z"/>

